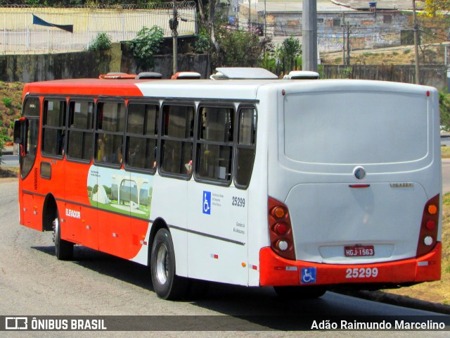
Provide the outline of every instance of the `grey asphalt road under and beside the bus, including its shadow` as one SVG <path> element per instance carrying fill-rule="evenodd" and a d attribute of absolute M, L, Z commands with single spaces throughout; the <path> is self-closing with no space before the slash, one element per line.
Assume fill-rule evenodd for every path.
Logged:
<path fill-rule="evenodd" d="M 281 334 L 298 337 L 299 332 L 280 332 L 279 327 L 270 324 L 269 317 L 264 315 L 282 320 L 287 315 L 319 318 L 321 315 L 433 314 L 333 292 L 316 300 L 282 300 L 271 288 L 226 284 L 212 284 L 202 299 L 163 301 L 153 292 L 148 270 L 142 265 L 82 246 L 75 247 L 74 261 L 58 261 L 54 256 L 51 233 L 19 225 L 17 180 L 0 180 L 0 191 L 0 315 L 176 315 L 179 317 L 173 317 L 174 321 L 169 320 L 167 325 L 174 331 L 182 327 L 187 332 L 134 332 L 133 336 L 229 337 L 230 332 L 220 330 L 233 330 L 234 326 L 210 317 L 226 315 L 226 318 L 236 320 L 235 324 L 252 325 L 252 331 L 272 330 L 256 334 L 238 331 L 233 334 L 236 337 L 280 337 Z M 217 331 L 214 334 L 189 331 L 190 325 L 198 325 L 195 315 L 206 315 L 207 329 Z M 235 318 L 237 315 L 255 315 L 255 318 L 242 321 Z M 20 337 L 43 337 L 43 332 L 20 333 Z M 44 336 L 60 337 L 61 332 L 57 333 L 45 332 Z M 124 336 L 124 332 L 96 333 L 102 337 Z M 411 332 L 394 333 L 394 337 L 411 337 Z M 436 337 L 444 337 L 446 333 L 433 332 Z M 319 334 L 321 337 L 385 337 L 387 332 L 307 332 L 309 337 Z"/>

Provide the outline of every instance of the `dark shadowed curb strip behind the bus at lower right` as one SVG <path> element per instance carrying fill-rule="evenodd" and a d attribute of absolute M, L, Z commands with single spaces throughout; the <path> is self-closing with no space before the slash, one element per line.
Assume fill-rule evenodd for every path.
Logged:
<path fill-rule="evenodd" d="M 368 301 L 378 301 L 379 303 L 387 303 L 404 308 L 415 308 L 417 310 L 430 311 L 450 315 L 450 305 L 442 303 L 432 303 L 431 301 L 421 301 L 420 299 L 409 298 L 408 296 L 399 296 L 398 294 L 390 294 L 383 291 L 359 291 L 359 290 L 342 290 L 330 289 L 331 292 L 337 294 L 345 294 L 346 296 L 367 299 Z"/>

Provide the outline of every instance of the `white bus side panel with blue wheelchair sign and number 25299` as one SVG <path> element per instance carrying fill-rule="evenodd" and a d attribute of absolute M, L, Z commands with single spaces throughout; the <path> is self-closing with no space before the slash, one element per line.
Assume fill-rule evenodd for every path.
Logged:
<path fill-rule="evenodd" d="M 248 191 L 188 182 L 188 277 L 248 284 Z"/>

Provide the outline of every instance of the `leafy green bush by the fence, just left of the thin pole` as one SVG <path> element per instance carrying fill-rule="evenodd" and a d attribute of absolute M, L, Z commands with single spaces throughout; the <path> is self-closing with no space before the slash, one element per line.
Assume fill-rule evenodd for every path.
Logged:
<path fill-rule="evenodd" d="M 142 27 L 137 36 L 129 43 L 131 54 L 137 58 L 142 65 L 152 68 L 155 65 L 153 56 L 161 49 L 164 40 L 164 32 L 161 27 Z"/>

